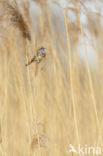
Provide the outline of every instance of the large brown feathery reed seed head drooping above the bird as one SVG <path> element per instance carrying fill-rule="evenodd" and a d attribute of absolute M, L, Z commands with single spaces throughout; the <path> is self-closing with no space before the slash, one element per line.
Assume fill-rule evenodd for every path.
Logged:
<path fill-rule="evenodd" d="M 16 3 L 13 3 L 14 5 L 10 4 L 7 1 L 3 1 L 0 3 L 1 5 L 1 16 L 4 14 L 5 20 L 9 22 L 9 24 L 12 24 L 14 27 L 20 30 L 24 38 L 27 38 L 28 40 L 31 40 L 29 27 L 23 17 L 23 15 L 20 13 L 18 6 Z M 7 22 L 5 21 L 5 22 Z"/>

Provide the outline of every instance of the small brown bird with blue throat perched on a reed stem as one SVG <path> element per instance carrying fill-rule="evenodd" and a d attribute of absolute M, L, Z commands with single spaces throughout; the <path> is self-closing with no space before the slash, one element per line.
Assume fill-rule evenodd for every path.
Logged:
<path fill-rule="evenodd" d="M 26 66 L 30 65 L 32 62 L 40 63 L 42 59 L 45 57 L 46 57 L 45 48 L 41 47 L 40 49 L 38 49 L 37 54 L 31 59 L 31 61 L 26 64 Z"/>

